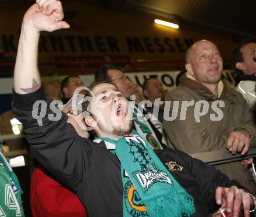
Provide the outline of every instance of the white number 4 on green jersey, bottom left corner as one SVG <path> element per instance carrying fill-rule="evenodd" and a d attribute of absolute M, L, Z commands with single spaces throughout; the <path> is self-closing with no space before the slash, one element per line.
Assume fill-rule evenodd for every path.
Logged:
<path fill-rule="evenodd" d="M 5 185 L 5 205 L 9 209 L 15 209 L 16 216 L 22 216 L 22 214 L 20 212 L 19 202 L 17 201 L 16 196 L 15 196 L 10 184 Z"/>

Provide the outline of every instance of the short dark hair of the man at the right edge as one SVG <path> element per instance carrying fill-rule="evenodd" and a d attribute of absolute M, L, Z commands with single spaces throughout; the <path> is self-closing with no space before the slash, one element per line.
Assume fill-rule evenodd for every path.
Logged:
<path fill-rule="evenodd" d="M 243 75 L 243 71 L 236 67 L 236 63 L 244 62 L 243 53 L 241 52 L 241 48 L 243 48 L 244 45 L 250 44 L 250 43 L 256 43 L 256 39 L 253 38 L 247 38 L 243 41 L 241 41 L 236 48 L 234 48 L 232 55 L 231 55 L 231 67 L 238 75 Z"/>

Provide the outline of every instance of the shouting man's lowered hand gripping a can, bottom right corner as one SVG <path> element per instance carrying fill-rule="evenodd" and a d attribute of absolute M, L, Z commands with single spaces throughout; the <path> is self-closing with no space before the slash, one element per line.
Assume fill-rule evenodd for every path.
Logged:
<path fill-rule="evenodd" d="M 217 187 L 215 192 L 216 204 L 226 207 L 227 212 L 232 212 L 233 216 L 239 216 L 241 205 L 244 209 L 244 217 L 250 217 L 250 208 L 253 198 L 243 189 L 236 186 Z M 254 202 L 253 202 L 254 203 Z"/>

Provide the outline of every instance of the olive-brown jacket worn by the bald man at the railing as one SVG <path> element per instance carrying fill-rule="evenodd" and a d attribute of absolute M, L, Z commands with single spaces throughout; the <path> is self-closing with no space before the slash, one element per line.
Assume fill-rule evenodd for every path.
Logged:
<path fill-rule="evenodd" d="M 180 85 L 173 89 L 166 96 L 165 100 L 172 103 L 173 101 L 179 101 L 177 118 L 173 121 L 166 121 L 165 114 L 163 118 L 163 128 L 178 150 L 192 154 L 226 149 L 227 138 L 230 132 L 239 129 L 246 129 L 251 135 L 251 146 L 256 145 L 256 128 L 246 100 L 235 89 L 227 88 L 224 82 L 222 92 L 219 94 L 219 97 L 216 97 L 204 85 L 190 78 L 183 77 Z M 200 117 L 200 122 L 196 122 L 195 106 L 187 107 L 185 120 L 180 120 L 182 101 L 191 100 L 194 100 L 194 105 L 200 100 L 209 103 L 208 113 Z M 223 112 L 223 117 L 220 121 L 211 120 L 212 115 L 218 116 L 216 108 L 212 109 L 212 103 L 216 100 L 223 100 L 225 104 L 224 107 L 219 107 Z M 172 105 L 170 113 L 168 113 L 169 117 L 172 115 Z M 253 182 L 250 171 L 244 168 L 240 162 L 219 165 L 218 168 L 226 173 L 229 178 L 238 180 L 241 185 L 256 193 L 256 185 Z"/>

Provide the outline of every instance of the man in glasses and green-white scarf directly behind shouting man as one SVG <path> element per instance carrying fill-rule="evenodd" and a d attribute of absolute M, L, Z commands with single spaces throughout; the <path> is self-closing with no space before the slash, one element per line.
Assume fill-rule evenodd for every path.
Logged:
<path fill-rule="evenodd" d="M 131 81 L 122 72 L 122 69 L 112 64 L 105 64 L 99 67 L 95 73 L 95 82 L 111 81 L 115 84 L 118 89 L 123 93 L 127 100 L 131 100 L 132 95 Z M 166 141 L 164 136 L 155 125 L 148 120 L 145 120 L 145 114 L 147 111 L 143 108 L 134 107 L 133 113 L 133 129 L 135 129 L 144 139 L 146 139 L 154 149 L 162 149 L 166 147 Z M 140 118 L 142 117 L 142 118 Z M 142 120 L 144 119 L 144 120 Z M 146 130 L 145 130 L 146 129 Z"/>

